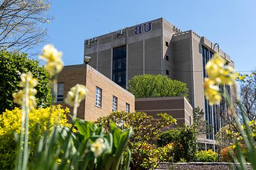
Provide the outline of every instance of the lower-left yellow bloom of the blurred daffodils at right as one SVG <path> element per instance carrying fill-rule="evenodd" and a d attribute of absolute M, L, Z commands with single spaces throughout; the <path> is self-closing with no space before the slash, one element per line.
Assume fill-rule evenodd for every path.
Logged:
<path fill-rule="evenodd" d="M 222 99 L 220 88 L 214 84 L 213 80 L 209 78 L 204 79 L 204 95 L 209 100 L 209 105 L 219 104 Z"/>

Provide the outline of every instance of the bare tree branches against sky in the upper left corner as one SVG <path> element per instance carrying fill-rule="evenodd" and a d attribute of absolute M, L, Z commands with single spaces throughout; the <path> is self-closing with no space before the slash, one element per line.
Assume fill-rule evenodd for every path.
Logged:
<path fill-rule="evenodd" d="M 43 42 L 48 23 L 48 0 L 0 1 L 0 50 L 28 51 Z"/>

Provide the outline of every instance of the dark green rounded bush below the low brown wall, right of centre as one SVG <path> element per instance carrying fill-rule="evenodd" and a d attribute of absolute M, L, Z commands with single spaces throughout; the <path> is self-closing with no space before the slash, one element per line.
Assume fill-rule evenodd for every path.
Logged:
<path fill-rule="evenodd" d="M 158 145 L 165 146 L 172 143 L 174 147 L 174 161 L 184 158 L 186 161 L 194 161 L 197 151 L 196 129 L 193 126 L 171 129 L 159 135 Z"/>

